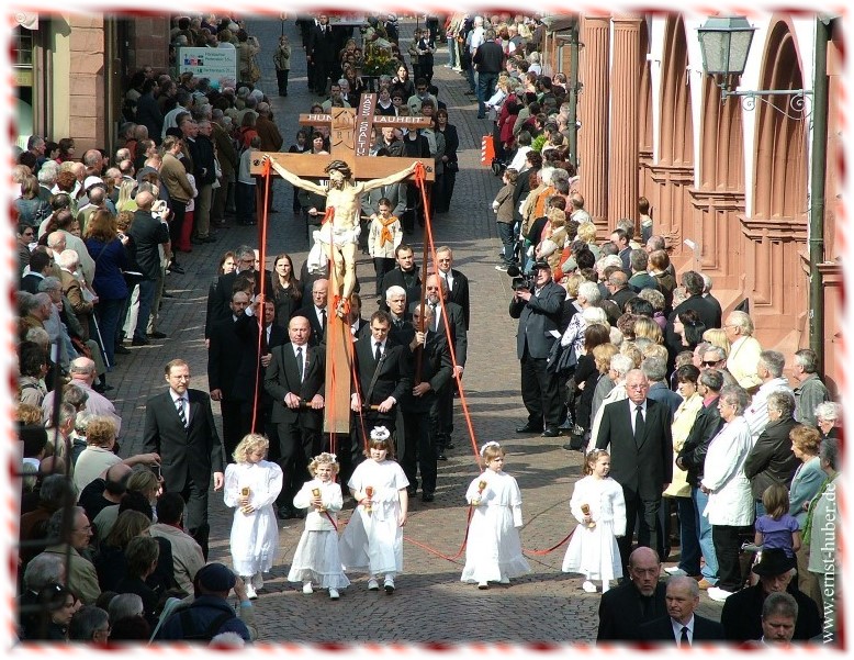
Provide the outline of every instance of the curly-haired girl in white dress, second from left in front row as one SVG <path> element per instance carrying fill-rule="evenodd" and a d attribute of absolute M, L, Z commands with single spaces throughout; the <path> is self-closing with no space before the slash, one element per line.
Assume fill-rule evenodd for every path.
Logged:
<path fill-rule="evenodd" d="M 338 590 L 350 584 L 341 570 L 338 556 L 338 512 L 344 506 L 341 486 L 333 481 L 338 473 L 335 454 L 315 456 L 308 465 L 314 477 L 306 481 L 293 499 L 296 508 L 307 508 L 305 530 L 296 545 L 290 582 L 302 582 L 303 593 L 313 593 L 312 582 L 329 590 L 329 597 L 338 600 Z"/>

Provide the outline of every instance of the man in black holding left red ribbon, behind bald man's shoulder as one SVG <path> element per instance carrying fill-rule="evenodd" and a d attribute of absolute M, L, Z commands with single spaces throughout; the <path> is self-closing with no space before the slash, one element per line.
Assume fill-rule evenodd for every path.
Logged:
<path fill-rule="evenodd" d="M 241 433 L 259 433 L 270 438 L 272 451 L 268 460 L 276 460 L 279 443 L 276 428 L 269 427 L 272 400 L 263 389 L 263 372 L 272 361 L 273 347 L 285 344 L 289 338 L 288 332 L 273 323 L 276 303 L 272 299 L 265 301 L 263 313 L 260 310 L 261 303 L 256 300 L 234 324 L 234 333 L 241 347 L 240 363 L 234 374 L 234 396 L 240 402 Z"/>

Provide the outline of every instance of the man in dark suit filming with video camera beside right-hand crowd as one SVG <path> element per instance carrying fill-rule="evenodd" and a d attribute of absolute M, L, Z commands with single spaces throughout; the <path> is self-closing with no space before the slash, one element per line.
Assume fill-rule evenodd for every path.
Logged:
<path fill-rule="evenodd" d="M 560 435 L 562 402 L 558 377 L 547 369 L 547 358 L 560 338 L 558 324 L 566 290 L 552 281 L 547 261 L 535 262 L 529 279 L 516 276 L 513 282 L 509 312 L 519 320 L 516 355 L 521 362 L 521 399 L 528 411 L 528 422 L 516 433 L 554 438 Z"/>

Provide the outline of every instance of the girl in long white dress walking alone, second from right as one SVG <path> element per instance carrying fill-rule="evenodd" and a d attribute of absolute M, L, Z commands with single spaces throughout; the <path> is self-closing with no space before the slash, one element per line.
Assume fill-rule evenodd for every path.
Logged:
<path fill-rule="evenodd" d="M 508 584 L 510 578 L 530 573 L 521 553 L 521 493 L 516 480 L 502 471 L 504 449 L 498 443 L 481 447 L 486 470 L 469 485 L 465 501 L 474 507 L 462 582 L 488 589 L 490 582 Z"/>

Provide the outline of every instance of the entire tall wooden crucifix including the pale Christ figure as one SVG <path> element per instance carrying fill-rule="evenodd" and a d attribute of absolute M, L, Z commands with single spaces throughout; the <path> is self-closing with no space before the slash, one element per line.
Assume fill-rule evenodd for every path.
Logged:
<path fill-rule="evenodd" d="M 345 323 L 349 298 L 356 286 L 356 250 L 363 192 L 414 176 L 416 164 L 424 166 L 425 180 L 435 180 L 428 158 L 370 156 L 373 126 L 427 126 L 425 118 L 374 116 L 377 94 L 362 94 L 357 109 L 332 108 L 330 114 L 301 114 L 301 125 L 330 124 L 330 154 L 254 154 L 251 174 L 271 171 L 285 181 L 326 198 L 326 214 L 316 234 L 325 253 L 332 255 L 329 291 L 335 314 L 326 328 L 326 415 L 324 430 L 348 433 L 350 428 L 350 365 L 352 361 L 349 323 Z M 402 168 L 402 166 L 405 167 Z M 328 188 L 308 179 L 329 179 Z"/>

